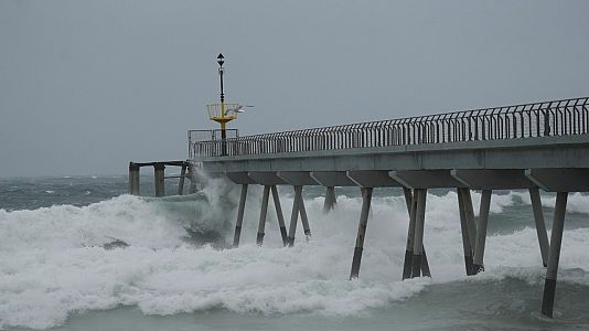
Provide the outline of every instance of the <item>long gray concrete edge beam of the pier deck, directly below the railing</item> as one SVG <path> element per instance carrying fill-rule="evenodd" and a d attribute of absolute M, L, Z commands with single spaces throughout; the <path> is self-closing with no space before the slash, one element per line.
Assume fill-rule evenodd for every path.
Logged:
<path fill-rule="evenodd" d="M 589 135 L 201 158 L 211 171 L 589 168 Z"/>

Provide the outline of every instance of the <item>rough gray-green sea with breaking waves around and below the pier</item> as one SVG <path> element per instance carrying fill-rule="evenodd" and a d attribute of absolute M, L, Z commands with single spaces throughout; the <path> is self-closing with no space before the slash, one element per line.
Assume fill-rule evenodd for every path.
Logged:
<path fill-rule="evenodd" d="M 150 177 L 142 192 L 152 193 Z M 229 248 L 239 190 L 138 197 L 127 178 L 0 179 L 1 330 L 588 330 L 589 196 L 571 194 L 555 318 L 539 314 L 542 266 L 529 197 L 494 192 L 486 270 L 464 275 L 457 194 L 428 193 L 432 278 L 400 281 L 408 215 L 398 189 L 375 190 L 360 279 L 349 280 L 357 189 L 304 189 L 312 237 L 281 247 L 272 203 L 255 245 L 250 188 L 242 246 Z M 174 192 L 169 183 L 168 192 Z M 292 189 L 280 188 L 288 222 Z M 473 192 L 478 211 L 480 194 Z M 555 196 L 543 194 L 550 228 Z"/>

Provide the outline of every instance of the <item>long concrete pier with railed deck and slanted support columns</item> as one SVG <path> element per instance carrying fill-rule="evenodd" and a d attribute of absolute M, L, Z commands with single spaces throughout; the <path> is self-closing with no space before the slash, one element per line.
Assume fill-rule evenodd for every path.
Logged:
<path fill-rule="evenodd" d="M 325 212 L 336 204 L 335 188 L 357 186 L 363 202 L 350 278 L 360 275 L 374 188 L 405 193 L 409 226 L 403 279 L 431 276 L 424 243 L 428 190 L 457 190 L 467 275 L 484 270 L 492 191 L 528 190 L 546 267 L 542 313 L 551 317 L 567 196 L 589 191 L 588 108 L 589 98 L 581 97 L 244 137 L 200 130 L 189 134 L 189 163 L 240 185 L 235 246 L 248 185 L 264 186 L 257 244 L 264 243 L 271 193 L 285 246 L 294 245 L 299 216 L 306 236 L 311 235 L 304 186 L 325 188 Z M 291 185 L 294 192 L 288 232 L 277 185 Z M 482 192 L 479 217 L 472 190 Z M 556 192 L 550 239 L 539 190 Z"/>

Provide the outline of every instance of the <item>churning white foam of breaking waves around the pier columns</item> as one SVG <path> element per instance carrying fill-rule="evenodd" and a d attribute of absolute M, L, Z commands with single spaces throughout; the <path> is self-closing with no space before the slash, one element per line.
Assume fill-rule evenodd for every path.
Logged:
<path fill-rule="evenodd" d="M 194 233 L 216 233 L 231 242 L 238 192 L 222 182 L 180 197 L 121 195 L 84 207 L 0 210 L 0 328 L 44 329 L 74 312 L 119 305 L 137 306 L 147 314 L 224 309 L 356 316 L 432 284 L 517 278 L 540 286 L 544 279 L 532 227 L 490 236 L 486 271 L 467 278 L 457 195 L 449 192 L 427 200 L 425 245 L 435 278 L 399 281 L 407 211 L 401 196 L 389 196 L 373 200 L 361 278 L 349 281 L 361 199 L 340 195 L 338 207 L 326 215 L 322 197 L 306 201 L 313 237 L 306 243 L 299 226 L 293 248 L 281 247 L 270 203 L 265 245 L 257 247 L 258 193 L 250 191 L 243 245 L 236 249 L 191 239 Z M 475 211 L 476 201 L 473 194 Z M 287 190 L 281 202 L 290 215 Z M 516 203 L 529 202 L 521 193 L 493 195 L 491 212 L 500 214 Z M 572 194 L 569 207 L 589 214 L 589 197 Z M 565 232 L 559 281 L 589 286 L 588 236 L 589 228 Z M 114 239 L 129 246 L 103 247 Z"/>

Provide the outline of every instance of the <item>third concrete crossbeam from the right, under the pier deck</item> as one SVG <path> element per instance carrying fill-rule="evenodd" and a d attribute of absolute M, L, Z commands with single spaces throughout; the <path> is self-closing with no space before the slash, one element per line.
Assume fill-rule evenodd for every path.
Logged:
<path fill-rule="evenodd" d="M 464 188 L 450 174 L 450 170 L 389 171 L 388 175 L 409 189 Z"/>

